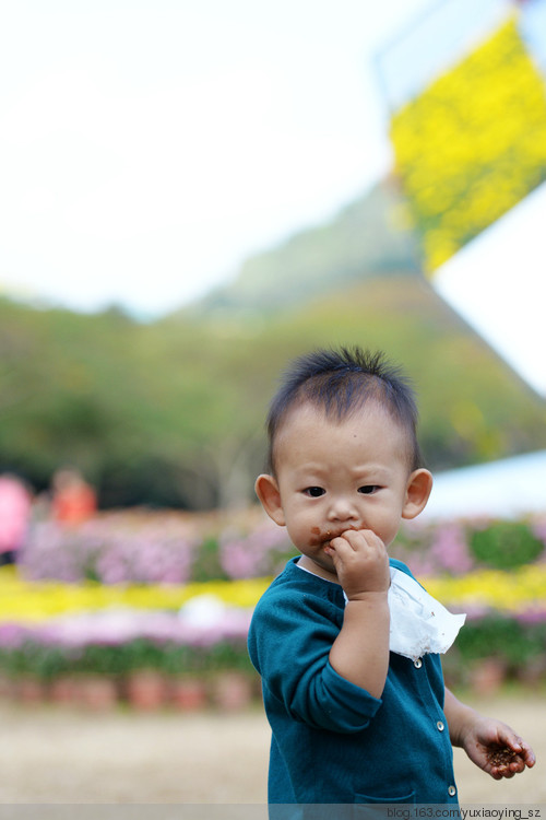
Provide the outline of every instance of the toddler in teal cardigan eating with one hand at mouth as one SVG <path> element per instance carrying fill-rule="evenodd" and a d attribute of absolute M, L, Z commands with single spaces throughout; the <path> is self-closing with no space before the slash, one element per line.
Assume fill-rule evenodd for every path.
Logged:
<path fill-rule="evenodd" d="M 495 780 L 535 763 L 509 726 L 446 688 L 440 653 L 464 616 L 389 559 L 432 485 L 416 423 L 405 378 L 358 348 L 297 360 L 271 403 L 256 490 L 301 554 L 249 631 L 272 727 L 270 804 L 458 804 L 452 746 Z"/>

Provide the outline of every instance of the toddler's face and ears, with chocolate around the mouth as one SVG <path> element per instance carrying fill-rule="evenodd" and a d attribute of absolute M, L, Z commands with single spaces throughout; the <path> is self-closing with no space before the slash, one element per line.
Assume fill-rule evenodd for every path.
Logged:
<path fill-rule="evenodd" d="M 403 517 L 414 517 L 430 492 L 430 473 L 410 470 L 401 425 L 378 405 L 336 422 L 310 405 L 294 410 L 275 442 L 276 479 L 261 476 L 257 492 L 270 516 L 285 525 L 295 547 L 319 574 L 335 576 L 324 552 L 349 529 L 370 529 L 385 544 Z M 415 508 L 414 478 L 426 493 Z M 422 481 L 423 483 L 423 481 Z"/>

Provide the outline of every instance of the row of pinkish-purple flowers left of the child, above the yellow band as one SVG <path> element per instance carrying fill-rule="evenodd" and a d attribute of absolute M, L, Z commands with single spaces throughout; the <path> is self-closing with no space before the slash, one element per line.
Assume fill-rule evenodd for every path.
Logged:
<path fill-rule="evenodd" d="M 127 512 L 78 527 L 33 526 L 20 569 L 29 581 L 187 584 L 275 575 L 294 548 L 257 509 L 216 515 Z"/>

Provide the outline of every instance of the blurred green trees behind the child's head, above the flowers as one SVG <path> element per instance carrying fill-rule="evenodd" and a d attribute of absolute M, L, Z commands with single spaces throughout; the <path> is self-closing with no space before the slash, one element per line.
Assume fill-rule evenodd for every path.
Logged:
<path fill-rule="evenodd" d="M 252 497 L 289 359 L 379 348 L 411 374 L 432 469 L 546 446 L 543 401 L 418 274 L 369 277 L 269 316 L 187 311 L 149 325 L 0 301 L 0 471 L 37 490 L 73 465 L 103 507 Z"/>

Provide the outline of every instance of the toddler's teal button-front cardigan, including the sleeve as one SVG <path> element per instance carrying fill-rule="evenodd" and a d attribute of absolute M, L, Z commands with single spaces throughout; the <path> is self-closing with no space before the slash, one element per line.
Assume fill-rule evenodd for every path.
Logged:
<path fill-rule="evenodd" d="M 343 589 L 297 560 L 259 600 L 248 637 L 272 728 L 269 803 L 456 804 L 439 655 L 391 653 L 380 700 L 342 678 L 329 653 Z"/>

